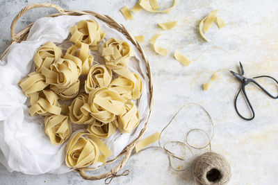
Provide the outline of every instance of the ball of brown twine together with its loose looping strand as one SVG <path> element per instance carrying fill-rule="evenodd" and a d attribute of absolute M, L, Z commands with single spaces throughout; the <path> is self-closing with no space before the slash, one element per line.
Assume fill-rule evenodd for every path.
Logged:
<path fill-rule="evenodd" d="M 179 114 L 179 112 L 181 112 L 181 109 L 188 107 L 188 105 L 197 105 L 197 106 L 201 107 L 204 110 L 204 112 L 206 112 L 206 114 L 208 115 L 208 118 L 211 121 L 211 128 L 212 128 L 211 136 L 209 136 L 205 130 L 195 128 L 193 130 L 190 130 L 186 134 L 186 142 L 185 143 L 181 142 L 181 141 L 168 141 L 167 143 L 162 145 L 161 144 L 161 134 L 163 134 L 163 132 L 167 129 L 167 127 L 172 123 L 174 118 Z M 188 136 L 195 131 L 204 132 L 204 134 L 206 135 L 206 137 L 208 139 L 208 143 L 206 145 L 204 145 L 202 147 L 197 147 L 197 146 L 193 146 L 193 144 L 190 144 L 188 142 Z M 184 147 L 188 148 L 192 157 L 193 157 L 192 148 L 197 149 L 197 150 L 202 150 L 206 147 L 209 147 L 209 152 L 206 152 L 203 155 L 200 155 L 199 157 L 194 159 L 194 161 L 192 162 L 191 172 L 193 175 L 193 179 L 195 180 L 195 182 L 197 184 L 202 184 L 202 185 L 220 185 L 220 184 L 224 185 L 224 184 L 227 184 L 227 182 L 229 182 L 229 180 L 231 179 L 231 166 L 229 165 L 229 162 L 222 155 L 219 155 L 215 152 L 211 152 L 211 140 L 213 139 L 213 134 L 214 134 L 213 119 L 211 118 L 211 115 L 206 111 L 206 109 L 204 107 L 202 107 L 202 105 L 199 105 L 198 103 L 187 103 L 186 105 L 183 105 L 177 111 L 177 113 L 174 114 L 174 116 L 171 118 L 170 122 L 167 123 L 167 125 L 165 125 L 165 127 L 161 131 L 161 134 L 158 139 L 158 146 L 149 146 L 147 148 L 140 150 L 139 152 L 142 152 L 149 148 L 160 148 L 167 153 L 170 168 L 172 168 L 172 170 L 175 170 L 175 171 L 183 171 L 183 170 L 187 170 L 187 169 L 186 168 L 177 169 L 172 166 L 172 157 L 179 159 L 181 161 L 184 161 L 184 159 L 182 157 L 175 155 L 174 152 L 171 152 L 169 149 L 167 149 L 166 146 L 168 144 L 177 143 L 177 144 L 183 145 Z"/>

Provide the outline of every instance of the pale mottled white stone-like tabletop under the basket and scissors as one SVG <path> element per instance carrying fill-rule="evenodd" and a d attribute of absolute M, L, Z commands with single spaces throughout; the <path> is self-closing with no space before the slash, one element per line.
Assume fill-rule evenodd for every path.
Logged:
<path fill-rule="evenodd" d="M 38 3 L 35 0 L 0 0 L 0 52 L 10 42 L 10 23 L 24 6 Z M 170 14 L 152 14 L 144 10 L 133 15 L 132 21 L 126 21 L 119 12 L 122 6 L 131 8 L 136 1 L 49 1 L 72 10 L 92 10 L 107 14 L 121 22 L 133 35 L 145 35 L 142 44 L 152 67 L 154 78 L 154 108 L 145 136 L 160 131 L 182 105 L 196 102 L 203 105 L 211 114 L 215 133 L 212 150 L 227 157 L 231 164 L 232 179 L 229 184 L 277 184 L 278 182 L 278 124 L 277 100 L 265 96 L 254 86 L 247 88 L 252 105 L 256 111 L 253 121 L 243 121 L 234 110 L 234 96 L 239 83 L 229 74 L 228 69 L 237 71 L 238 60 L 243 62 L 247 76 L 268 74 L 278 78 L 278 3 L 275 0 L 235 0 L 235 1 L 177 1 Z M 159 1 L 163 8 L 172 1 Z M 163 2 L 163 3 L 162 3 Z M 206 33 L 210 42 L 199 36 L 198 24 L 211 10 L 218 9 L 227 23 L 218 30 L 213 26 Z M 24 28 L 38 17 L 55 12 L 41 8 L 31 10 L 17 24 L 17 30 Z M 161 30 L 156 24 L 164 21 L 178 21 L 172 30 Z M 168 49 L 167 57 L 156 55 L 149 39 L 161 33 L 158 44 Z M 189 67 L 183 67 L 173 59 L 174 51 L 193 60 Z M 202 84 L 208 82 L 211 75 L 218 71 L 222 77 L 212 83 L 208 91 L 202 90 Z M 277 88 L 270 82 L 270 91 Z M 239 105 L 248 114 L 241 99 Z M 211 125 L 204 112 L 198 107 L 183 109 L 174 124 L 171 125 L 163 142 L 184 141 L 186 132 L 199 127 L 212 133 Z M 196 145 L 206 143 L 205 136 L 194 133 L 190 138 Z M 191 155 L 188 149 L 174 146 L 171 150 L 179 152 L 185 161 L 174 161 L 177 168 L 187 168 Z M 200 155 L 204 150 L 193 150 Z M 129 169 L 128 176 L 113 179 L 111 184 L 194 184 L 190 170 L 176 172 L 170 170 L 167 155 L 161 150 L 146 150 L 132 156 L 123 170 Z M 104 169 L 104 170 L 107 170 Z M 123 171 L 122 170 L 122 171 Z M 93 174 L 93 173 L 90 173 Z M 24 175 L 10 173 L 0 165 L 0 184 L 104 184 L 85 181 L 78 173 L 62 175 Z"/>

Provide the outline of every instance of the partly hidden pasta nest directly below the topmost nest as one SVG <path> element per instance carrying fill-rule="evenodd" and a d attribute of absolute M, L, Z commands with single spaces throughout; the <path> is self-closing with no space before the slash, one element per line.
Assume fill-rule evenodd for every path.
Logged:
<path fill-rule="evenodd" d="M 67 53 L 64 56 L 65 59 L 76 61 L 76 64 L 79 64 L 78 59 L 81 60 L 81 71 L 82 74 L 88 74 L 90 67 L 94 58 L 90 55 L 89 45 L 83 42 L 76 43 L 67 49 Z M 79 66 L 79 65 L 78 65 Z"/>

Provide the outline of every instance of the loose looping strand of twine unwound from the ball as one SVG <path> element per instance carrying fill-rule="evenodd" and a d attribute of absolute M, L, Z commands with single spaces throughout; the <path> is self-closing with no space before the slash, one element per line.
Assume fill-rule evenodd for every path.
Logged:
<path fill-rule="evenodd" d="M 172 123 L 172 121 L 174 120 L 174 118 L 177 116 L 177 114 L 179 114 L 179 112 L 181 112 L 181 110 L 185 107 L 187 107 L 188 105 L 197 105 L 199 107 L 201 107 L 204 112 L 208 115 L 208 118 L 210 119 L 210 122 L 211 122 L 211 128 L 212 128 L 212 134 L 211 136 L 209 136 L 209 134 L 205 131 L 205 130 L 202 130 L 202 129 L 199 129 L 199 128 L 195 128 L 195 129 L 192 129 L 190 131 L 188 131 L 188 133 L 186 134 L 186 143 L 182 142 L 182 141 L 167 141 L 163 146 L 161 144 L 161 135 L 163 134 L 163 132 L 166 130 L 166 128 Z M 192 144 L 190 144 L 188 142 L 188 136 L 190 135 L 190 133 L 194 132 L 194 131 L 201 131 L 203 132 L 204 134 L 206 134 L 206 137 L 208 138 L 208 143 L 205 145 L 205 146 L 202 146 L 202 147 L 197 147 L 197 146 L 193 146 Z M 179 108 L 179 110 L 174 114 L 174 116 L 171 118 L 171 120 L 167 123 L 167 125 L 165 125 L 165 127 L 163 127 L 163 130 L 161 130 L 161 134 L 160 134 L 160 138 L 158 139 L 158 146 L 149 146 L 147 148 L 144 148 L 142 150 L 140 150 L 139 152 L 142 152 L 144 150 L 147 150 L 149 148 L 160 148 L 162 149 L 163 151 L 165 151 L 168 155 L 168 160 L 169 160 L 169 166 L 170 168 L 172 168 L 172 170 L 175 170 L 175 171 L 184 171 L 186 170 L 186 168 L 183 168 L 183 169 L 177 169 L 177 168 L 174 168 L 172 166 L 172 159 L 171 157 L 174 157 L 176 159 L 179 159 L 181 161 L 184 161 L 184 159 L 182 157 L 179 157 L 177 156 L 176 154 L 174 154 L 173 152 L 170 152 L 170 150 L 168 150 L 166 148 L 166 146 L 170 143 L 178 143 L 178 144 L 181 144 L 183 146 L 185 146 L 186 148 L 188 148 L 188 150 L 190 151 L 191 155 L 192 155 L 192 158 L 193 158 L 193 151 L 192 151 L 192 148 L 194 149 L 197 149 L 197 150 L 202 150 L 206 147 L 209 146 L 209 151 L 211 152 L 211 140 L 213 139 L 213 135 L 214 135 L 214 124 L 213 124 L 213 119 L 211 118 L 211 115 L 208 113 L 208 111 L 202 106 L 202 105 L 199 105 L 199 103 L 186 103 L 185 105 L 183 105 L 181 108 Z M 138 152 L 138 153 L 139 153 Z"/>

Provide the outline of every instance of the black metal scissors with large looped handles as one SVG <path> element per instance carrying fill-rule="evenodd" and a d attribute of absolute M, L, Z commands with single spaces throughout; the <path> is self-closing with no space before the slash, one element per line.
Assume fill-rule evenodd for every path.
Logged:
<path fill-rule="evenodd" d="M 240 82 L 242 82 L 241 88 L 238 91 L 238 94 L 236 95 L 236 98 L 234 100 L 234 106 L 236 108 L 236 112 L 238 113 L 238 116 L 240 116 L 241 118 L 243 118 L 243 119 L 245 119 L 247 121 L 250 121 L 250 120 L 252 120 L 255 117 L 255 112 L 254 112 L 254 109 L 253 109 L 253 107 L 252 107 L 252 105 L 250 103 L 250 100 L 247 97 L 247 94 L 246 94 L 246 91 L 245 91 L 245 86 L 248 85 L 250 82 L 253 82 L 256 86 L 261 88 L 265 92 L 265 94 L 268 94 L 268 96 L 270 96 L 271 98 L 277 99 L 278 95 L 277 96 L 273 96 L 272 94 L 270 94 L 267 90 L 265 90 L 263 87 L 261 87 L 261 85 L 259 85 L 259 83 L 256 82 L 256 80 L 254 80 L 254 78 L 270 78 L 270 79 L 274 80 L 277 83 L 277 85 L 278 85 L 278 81 L 275 78 L 271 77 L 271 76 L 256 76 L 256 77 L 253 77 L 253 78 L 245 78 L 244 77 L 243 65 L 240 62 L 239 62 L 239 64 L 240 64 L 240 74 L 235 73 L 234 71 L 230 71 L 236 78 L 238 78 L 238 80 L 240 80 Z M 246 117 L 244 117 L 243 115 L 241 115 L 238 112 L 238 107 L 237 107 L 236 102 L 238 100 L 238 95 L 240 94 L 240 91 L 243 91 L 243 95 L 245 97 L 245 100 L 247 100 L 248 106 L 251 109 L 251 112 L 252 112 L 252 117 L 251 118 L 246 118 Z"/>

